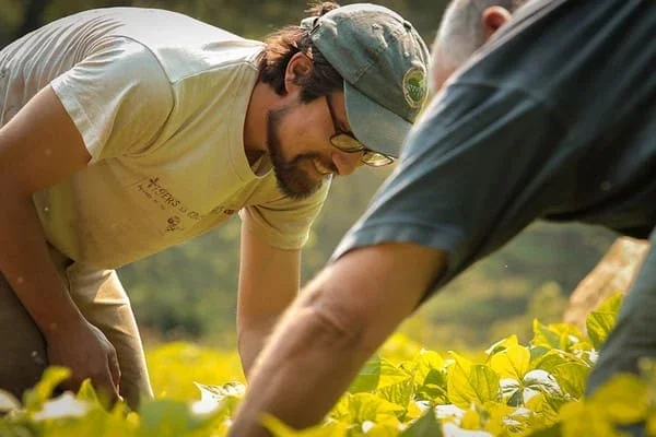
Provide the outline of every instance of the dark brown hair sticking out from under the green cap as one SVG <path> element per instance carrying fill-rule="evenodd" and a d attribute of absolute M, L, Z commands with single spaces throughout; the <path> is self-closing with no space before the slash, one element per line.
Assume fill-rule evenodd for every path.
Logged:
<path fill-rule="evenodd" d="M 321 16 L 339 8 L 338 3 L 325 1 L 313 3 L 305 12 L 308 16 Z M 298 78 L 302 86 L 301 101 L 311 102 L 335 91 L 343 90 L 343 79 L 328 63 L 309 37 L 309 32 L 301 26 L 285 26 L 265 38 L 265 54 L 260 61 L 260 80 L 284 95 L 284 73 L 294 55 L 302 52 L 313 60 L 313 69 L 306 76 Z"/>

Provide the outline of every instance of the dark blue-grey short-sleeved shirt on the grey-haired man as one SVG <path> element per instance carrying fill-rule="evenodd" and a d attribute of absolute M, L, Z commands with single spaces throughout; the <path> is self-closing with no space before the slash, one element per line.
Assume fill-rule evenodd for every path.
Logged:
<path fill-rule="evenodd" d="M 534 0 L 431 103 L 332 259 L 445 250 L 444 284 L 536 218 L 656 224 L 656 2 Z"/>

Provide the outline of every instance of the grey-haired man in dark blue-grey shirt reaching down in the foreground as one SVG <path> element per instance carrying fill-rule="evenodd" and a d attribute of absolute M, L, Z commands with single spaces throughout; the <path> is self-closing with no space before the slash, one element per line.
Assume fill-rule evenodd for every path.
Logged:
<path fill-rule="evenodd" d="M 458 51 L 492 31 L 485 16 L 509 16 L 485 14 L 485 3 L 447 10 L 433 48 L 440 92 L 395 173 L 276 328 L 235 436 L 266 435 L 263 412 L 295 427 L 319 422 L 405 318 L 535 220 L 656 239 L 656 2 L 528 1 L 444 82 L 471 55 Z M 467 14 L 482 16 L 480 32 L 454 27 Z M 656 355 L 654 307 L 652 250 L 588 393 Z"/>

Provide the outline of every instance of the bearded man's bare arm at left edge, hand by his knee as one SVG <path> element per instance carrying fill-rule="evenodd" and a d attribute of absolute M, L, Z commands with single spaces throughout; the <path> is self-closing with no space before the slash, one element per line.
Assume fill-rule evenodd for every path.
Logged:
<path fill-rule="evenodd" d="M 50 364 L 71 367 L 118 395 L 116 352 L 86 322 L 55 268 L 32 194 L 84 167 L 90 154 L 47 86 L 0 129 L 0 271 L 46 339 Z"/>

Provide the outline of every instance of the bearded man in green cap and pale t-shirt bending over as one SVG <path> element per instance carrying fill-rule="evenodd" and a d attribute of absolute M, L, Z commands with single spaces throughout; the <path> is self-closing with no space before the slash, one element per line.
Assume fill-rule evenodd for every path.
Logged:
<path fill-rule="evenodd" d="M 309 12 L 260 43 L 171 11 L 90 10 L 0 51 L 1 389 L 20 395 L 51 364 L 71 368 L 65 388 L 152 397 L 114 269 L 236 211 L 249 373 L 298 292 L 331 177 L 391 164 L 427 95 L 408 21 Z"/>

